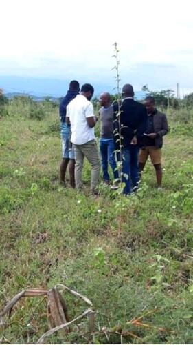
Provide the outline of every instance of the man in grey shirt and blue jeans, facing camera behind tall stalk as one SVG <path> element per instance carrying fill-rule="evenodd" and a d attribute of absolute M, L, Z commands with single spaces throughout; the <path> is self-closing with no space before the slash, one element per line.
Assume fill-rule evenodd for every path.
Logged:
<path fill-rule="evenodd" d="M 114 179 L 119 178 L 118 171 L 116 170 L 115 161 L 115 145 L 113 139 L 113 120 L 114 112 L 111 105 L 111 99 L 108 92 L 104 92 L 100 95 L 100 105 L 102 108 L 99 110 L 100 118 L 100 154 L 102 158 L 102 172 L 104 183 L 110 184 L 110 177 L 108 172 L 108 163 L 113 170 Z"/>

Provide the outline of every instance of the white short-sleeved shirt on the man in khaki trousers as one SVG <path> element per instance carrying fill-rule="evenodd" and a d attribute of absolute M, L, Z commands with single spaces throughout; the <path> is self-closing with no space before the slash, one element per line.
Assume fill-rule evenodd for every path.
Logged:
<path fill-rule="evenodd" d="M 82 145 L 95 139 L 94 128 L 87 124 L 87 117 L 95 116 L 93 105 L 83 95 L 77 95 L 67 106 L 71 124 L 71 142 Z"/>

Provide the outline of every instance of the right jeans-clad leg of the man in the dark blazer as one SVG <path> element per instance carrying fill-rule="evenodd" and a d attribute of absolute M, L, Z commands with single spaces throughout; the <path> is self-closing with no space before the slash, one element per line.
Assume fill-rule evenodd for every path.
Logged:
<path fill-rule="evenodd" d="M 139 146 L 130 145 L 130 179 L 135 191 L 139 185 L 139 164 L 138 164 Z"/>

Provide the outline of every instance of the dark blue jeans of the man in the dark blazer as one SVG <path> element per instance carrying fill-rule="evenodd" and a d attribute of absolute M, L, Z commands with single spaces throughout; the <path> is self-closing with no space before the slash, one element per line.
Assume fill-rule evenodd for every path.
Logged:
<path fill-rule="evenodd" d="M 128 148 L 122 148 L 122 173 L 128 175 L 128 179 L 122 177 L 122 182 L 126 184 L 124 194 L 130 194 L 139 184 L 138 155 L 139 146 L 137 145 L 130 144 Z"/>

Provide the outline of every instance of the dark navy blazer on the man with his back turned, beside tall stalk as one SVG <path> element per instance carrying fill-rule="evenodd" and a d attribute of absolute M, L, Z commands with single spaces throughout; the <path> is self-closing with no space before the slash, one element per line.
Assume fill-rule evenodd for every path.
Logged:
<path fill-rule="evenodd" d="M 114 107 L 115 118 L 118 111 L 118 106 Z M 120 106 L 120 123 L 121 123 L 121 136 L 122 146 L 128 148 L 130 141 L 134 135 L 137 136 L 137 142 L 141 141 L 141 136 L 146 130 L 147 110 L 143 104 L 134 101 L 132 98 L 126 98 L 122 101 Z M 116 118 L 115 121 L 115 146 L 118 148 L 116 132 L 119 131 L 119 123 Z"/>

